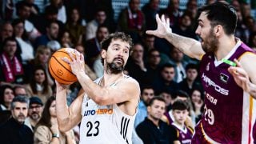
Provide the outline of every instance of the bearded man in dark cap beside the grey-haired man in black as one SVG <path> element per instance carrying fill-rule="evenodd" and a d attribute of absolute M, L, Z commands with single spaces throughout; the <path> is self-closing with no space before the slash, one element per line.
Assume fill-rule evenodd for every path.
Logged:
<path fill-rule="evenodd" d="M 30 107 L 28 110 L 28 117 L 25 120 L 25 125 L 29 126 L 34 131 L 35 126 L 42 116 L 43 103 L 38 97 L 30 98 Z"/>

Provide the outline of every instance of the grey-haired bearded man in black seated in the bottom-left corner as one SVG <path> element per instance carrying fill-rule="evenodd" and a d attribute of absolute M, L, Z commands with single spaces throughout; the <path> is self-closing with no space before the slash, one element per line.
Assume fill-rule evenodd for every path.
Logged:
<path fill-rule="evenodd" d="M 6 123 L 0 126 L 1 143 L 33 144 L 33 132 L 24 124 L 29 108 L 29 100 L 24 96 L 17 96 L 11 102 L 11 115 Z"/>

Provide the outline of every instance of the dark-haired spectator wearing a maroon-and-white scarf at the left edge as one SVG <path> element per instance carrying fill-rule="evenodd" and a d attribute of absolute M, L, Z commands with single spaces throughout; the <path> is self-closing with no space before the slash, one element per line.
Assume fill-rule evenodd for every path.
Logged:
<path fill-rule="evenodd" d="M 0 82 L 23 84 L 25 82 L 22 60 L 16 55 L 18 43 L 6 38 L 0 55 Z"/>

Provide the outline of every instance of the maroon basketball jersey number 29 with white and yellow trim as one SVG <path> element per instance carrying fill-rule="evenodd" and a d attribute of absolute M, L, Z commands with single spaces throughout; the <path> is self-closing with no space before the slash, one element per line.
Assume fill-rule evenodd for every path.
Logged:
<path fill-rule="evenodd" d="M 234 61 L 242 54 L 254 54 L 248 46 L 238 42 L 226 59 Z M 202 134 L 208 142 L 250 143 L 255 119 L 256 102 L 228 72 L 229 64 L 218 61 L 214 55 L 202 57 L 200 74 L 206 91 L 205 112 L 202 115 Z"/>

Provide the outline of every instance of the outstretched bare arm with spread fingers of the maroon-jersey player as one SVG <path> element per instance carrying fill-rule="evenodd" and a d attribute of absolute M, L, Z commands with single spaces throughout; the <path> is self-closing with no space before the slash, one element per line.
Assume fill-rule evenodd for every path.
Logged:
<path fill-rule="evenodd" d="M 205 52 L 202 50 L 201 43 L 193 38 L 186 38 L 178 34 L 172 33 L 170 29 L 169 18 L 165 19 L 162 15 L 161 19 L 159 15 L 156 15 L 156 21 L 158 23 L 157 30 L 147 30 L 146 34 L 153 34 L 158 38 L 166 38 L 168 42 L 181 50 L 184 54 L 191 58 L 200 59 Z"/>

